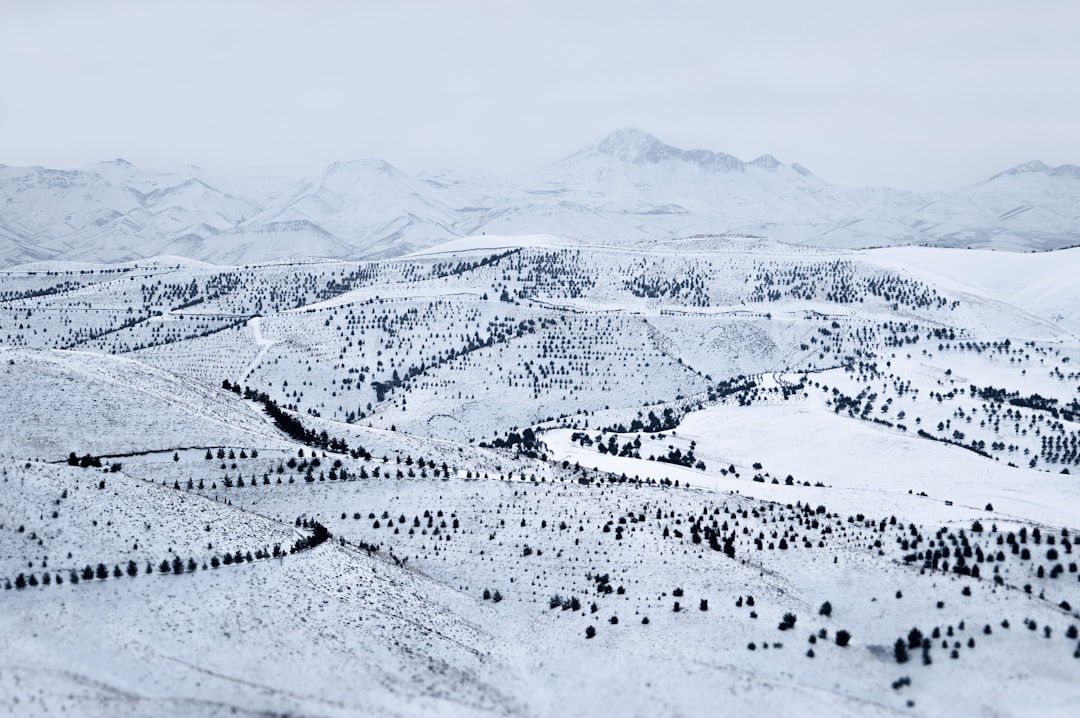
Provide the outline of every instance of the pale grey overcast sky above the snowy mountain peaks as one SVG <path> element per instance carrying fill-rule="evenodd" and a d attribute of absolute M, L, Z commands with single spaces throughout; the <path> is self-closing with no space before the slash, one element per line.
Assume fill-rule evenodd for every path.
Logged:
<path fill-rule="evenodd" d="M 509 176 L 625 125 L 840 185 L 1080 164 L 1080 2 L 0 0 L 0 163 Z"/>

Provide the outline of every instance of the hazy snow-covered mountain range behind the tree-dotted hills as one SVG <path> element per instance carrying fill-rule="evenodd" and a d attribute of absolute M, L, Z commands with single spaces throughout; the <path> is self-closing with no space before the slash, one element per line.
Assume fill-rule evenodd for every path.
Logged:
<path fill-rule="evenodd" d="M 1047 250 L 1080 244 L 1080 167 L 1028 162 L 959 192 L 831 185 L 771 155 L 744 162 L 619 130 L 508 180 L 382 160 L 299 180 L 0 165 L 0 265 L 179 255 L 216 263 L 382 258 L 459 236 L 549 233 L 638 243 L 742 233 L 831 247 L 929 244 Z"/>

